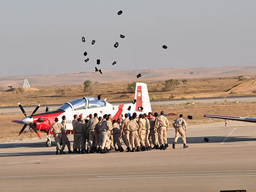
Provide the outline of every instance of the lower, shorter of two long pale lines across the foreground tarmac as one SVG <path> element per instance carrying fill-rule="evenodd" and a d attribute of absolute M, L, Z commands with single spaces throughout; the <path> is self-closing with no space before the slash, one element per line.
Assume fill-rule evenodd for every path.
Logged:
<path fill-rule="evenodd" d="M 198 178 L 198 177 L 256 177 L 256 174 L 220 175 L 220 176 L 168 176 L 168 177 L 114 177 L 114 178 L 88 178 L 88 180 L 114 180 L 114 179 L 137 179 L 137 178 Z"/>

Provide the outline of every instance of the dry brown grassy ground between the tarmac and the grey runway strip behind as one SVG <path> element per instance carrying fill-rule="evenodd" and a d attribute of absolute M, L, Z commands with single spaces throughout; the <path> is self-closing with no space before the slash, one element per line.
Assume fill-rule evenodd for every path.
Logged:
<path fill-rule="evenodd" d="M 203 114 L 223 114 L 223 115 L 233 115 L 233 116 L 246 116 L 246 117 L 256 117 L 255 112 L 256 103 L 223 103 L 215 105 L 204 105 L 204 104 L 194 104 L 194 105 L 171 105 L 171 106 L 159 106 L 154 107 L 153 112 L 160 112 L 164 110 L 166 113 L 176 113 L 184 114 L 184 117 L 188 125 L 192 124 L 202 124 L 202 123 L 213 123 L 224 120 L 209 119 L 203 117 Z M 187 116 L 192 115 L 193 120 L 188 120 Z M 169 122 L 173 122 L 177 116 L 167 116 Z M 22 124 L 11 123 L 12 119 L 22 119 L 23 114 L 0 114 L 0 142 L 11 142 L 14 140 L 28 140 L 36 139 L 36 135 L 33 131 L 23 132 L 21 136 L 18 137 L 19 131 L 22 128 Z M 171 126 L 170 126 L 171 128 Z M 41 133 L 41 136 L 46 140 L 46 134 Z"/>

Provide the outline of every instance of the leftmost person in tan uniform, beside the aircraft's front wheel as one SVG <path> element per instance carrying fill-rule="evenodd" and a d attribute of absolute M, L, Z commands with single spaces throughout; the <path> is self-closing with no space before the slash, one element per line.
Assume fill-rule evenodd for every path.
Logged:
<path fill-rule="evenodd" d="M 60 149 L 60 141 L 61 141 L 61 138 L 62 138 L 63 126 L 58 121 L 59 121 L 59 119 L 56 117 L 55 118 L 55 123 L 53 123 L 52 127 L 50 127 L 50 132 L 54 133 L 54 139 L 55 139 L 55 142 L 56 142 L 56 154 L 59 154 L 59 151 L 60 151 L 60 154 L 62 154 L 62 150 Z"/>

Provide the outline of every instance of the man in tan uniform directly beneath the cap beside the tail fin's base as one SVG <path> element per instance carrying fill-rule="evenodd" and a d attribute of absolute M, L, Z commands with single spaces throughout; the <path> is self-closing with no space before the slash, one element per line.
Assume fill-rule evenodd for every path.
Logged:
<path fill-rule="evenodd" d="M 132 146 L 131 152 L 141 151 L 140 149 L 140 139 L 138 134 L 139 124 L 136 122 L 136 114 L 133 114 L 132 120 L 127 123 L 127 129 L 130 131 L 130 144 Z M 135 150 L 135 147 L 137 149 Z"/>

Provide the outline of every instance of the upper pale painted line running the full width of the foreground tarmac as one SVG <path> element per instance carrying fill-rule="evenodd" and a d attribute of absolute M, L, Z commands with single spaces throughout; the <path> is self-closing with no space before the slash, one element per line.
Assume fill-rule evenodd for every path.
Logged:
<path fill-rule="evenodd" d="M 221 170 L 221 171 L 213 170 L 213 171 L 173 171 L 173 172 L 145 172 L 145 173 L 91 173 L 91 174 L 89 173 L 89 174 L 54 174 L 54 175 L 34 175 L 34 176 L 0 176 L 0 178 L 110 176 L 110 175 L 124 175 L 124 174 L 167 174 L 167 173 L 171 174 L 171 173 L 216 173 L 216 172 L 220 172 L 220 173 L 221 172 L 255 172 L 254 174 L 256 176 L 256 170 Z M 240 173 L 240 174 L 248 174 L 248 173 Z M 254 175 L 250 174 L 250 176 L 254 176 Z"/>

